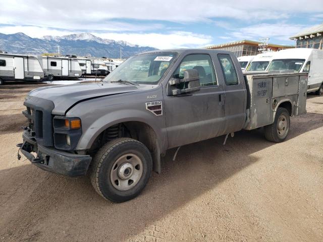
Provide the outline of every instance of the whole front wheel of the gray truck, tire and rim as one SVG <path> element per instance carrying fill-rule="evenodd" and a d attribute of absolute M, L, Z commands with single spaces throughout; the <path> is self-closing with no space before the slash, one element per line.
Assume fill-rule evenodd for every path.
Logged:
<path fill-rule="evenodd" d="M 90 179 L 95 191 L 104 199 L 125 202 L 140 194 L 151 170 L 151 154 L 144 144 L 130 138 L 118 138 L 106 143 L 95 154 Z"/>

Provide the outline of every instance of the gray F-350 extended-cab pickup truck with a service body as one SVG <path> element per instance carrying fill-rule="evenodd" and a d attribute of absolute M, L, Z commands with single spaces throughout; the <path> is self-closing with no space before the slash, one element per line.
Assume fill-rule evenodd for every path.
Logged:
<path fill-rule="evenodd" d="M 306 88 L 307 73 L 243 75 L 229 51 L 145 52 L 102 82 L 31 91 L 17 146 L 41 169 L 89 173 L 98 194 L 123 202 L 160 172 L 170 148 L 260 127 L 284 141 L 290 116 L 306 112 Z"/>

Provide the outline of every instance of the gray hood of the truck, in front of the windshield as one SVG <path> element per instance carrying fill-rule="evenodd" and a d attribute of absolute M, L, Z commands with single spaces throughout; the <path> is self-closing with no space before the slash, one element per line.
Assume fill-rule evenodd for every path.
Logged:
<path fill-rule="evenodd" d="M 84 100 L 139 91 L 139 86 L 120 83 L 87 83 L 41 87 L 29 92 L 29 96 L 50 100 L 55 108 L 52 114 L 65 115 L 76 103 Z"/>

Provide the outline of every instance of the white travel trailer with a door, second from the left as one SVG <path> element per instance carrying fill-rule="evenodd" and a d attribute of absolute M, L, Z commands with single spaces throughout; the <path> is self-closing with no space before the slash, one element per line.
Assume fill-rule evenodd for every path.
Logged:
<path fill-rule="evenodd" d="M 54 78 L 79 78 L 82 76 L 82 70 L 76 59 L 66 57 L 43 56 L 42 69 L 49 81 Z"/>

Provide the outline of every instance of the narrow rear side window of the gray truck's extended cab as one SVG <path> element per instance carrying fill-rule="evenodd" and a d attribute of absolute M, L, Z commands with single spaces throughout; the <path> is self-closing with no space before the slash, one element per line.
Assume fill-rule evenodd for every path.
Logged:
<path fill-rule="evenodd" d="M 238 74 L 229 54 L 218 54 L 219 62 L 227 86 L 239 85 Z"/>

